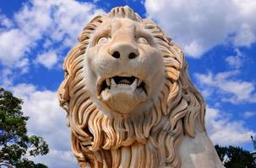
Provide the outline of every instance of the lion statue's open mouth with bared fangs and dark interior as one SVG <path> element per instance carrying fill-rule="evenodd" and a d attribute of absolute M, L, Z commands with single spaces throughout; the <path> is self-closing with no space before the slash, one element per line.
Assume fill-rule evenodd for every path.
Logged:
<path fill-rule="evenodd" d="M 145 82 L 135 76 L 112 76 L 99 81 L 97 95 L 100 96 L 103 91 L 128 91 L 135 94 L 144 92 L 147 95 Z"/>

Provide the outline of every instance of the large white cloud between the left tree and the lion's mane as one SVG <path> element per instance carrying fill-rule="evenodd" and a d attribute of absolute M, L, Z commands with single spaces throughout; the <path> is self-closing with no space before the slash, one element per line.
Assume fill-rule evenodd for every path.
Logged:
<path fill-rule="evenodd" d="M 30 84 L 10 87 L 14 96 L 23 99 L 23 112 L 30 119 L 27 122 L 29 134 L 43 137 L 49 144 L 50 153 L 35 159 L 49 167 L 78 167 L 70 150 L 70 131 L 66 125 L 66 114 L 59 107 L 56 92 L 38 91 Z"/>

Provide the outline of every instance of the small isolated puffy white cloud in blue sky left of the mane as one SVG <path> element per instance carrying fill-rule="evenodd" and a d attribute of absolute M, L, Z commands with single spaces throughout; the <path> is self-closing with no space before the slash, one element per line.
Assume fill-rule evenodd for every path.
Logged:
<path fill-rule="evenodd" d="M 35 64 L 41 64 L 46 66 L 46 68 L 51 69 L 57 64 L 57 54 L 52 50 L 41 55 L 37 55 L 35 59 Z"/>

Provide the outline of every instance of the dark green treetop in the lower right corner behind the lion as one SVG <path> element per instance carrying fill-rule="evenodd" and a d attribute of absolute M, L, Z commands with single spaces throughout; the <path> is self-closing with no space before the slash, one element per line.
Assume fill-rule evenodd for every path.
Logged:
<path fill-rule="evenodd" d="M 215 149 L 226 168 L 256 168 L 253 155 L 240 147 L 221 147 L 215 145 Z"/>

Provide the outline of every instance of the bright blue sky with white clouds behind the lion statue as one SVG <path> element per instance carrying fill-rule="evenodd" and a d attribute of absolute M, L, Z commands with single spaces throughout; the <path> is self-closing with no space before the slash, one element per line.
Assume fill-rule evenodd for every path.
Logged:
<path fill-rule="evenodd" d="M 77 167 L 56 91 L 63 58 L 90 18 L 128 5 L 182 47 L 189 74 L 207 102 L 215 144 L 253 150 L 256 136 L 256 1 L 0 1 L 0 86 L 24 99 L 30 134 L 44 137 L 49 167 Z"/>

